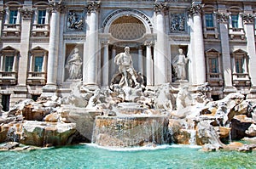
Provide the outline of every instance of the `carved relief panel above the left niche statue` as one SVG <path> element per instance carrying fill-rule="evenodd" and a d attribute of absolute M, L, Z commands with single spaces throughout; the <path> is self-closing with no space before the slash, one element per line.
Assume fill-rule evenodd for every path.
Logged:
<path fill-rule="evenodd" d="M 84 17 L 81 12 L 69 11 L 67 17 L 67 29 L 69 30 L 83 30 Z"/>

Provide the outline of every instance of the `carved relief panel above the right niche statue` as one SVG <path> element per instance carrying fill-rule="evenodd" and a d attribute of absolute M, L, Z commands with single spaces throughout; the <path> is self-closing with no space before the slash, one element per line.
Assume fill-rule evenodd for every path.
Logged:
<path fill-rule="evenodd" d="M 185 31 L 185 14 L 170 14 L 171 32 Z"/>

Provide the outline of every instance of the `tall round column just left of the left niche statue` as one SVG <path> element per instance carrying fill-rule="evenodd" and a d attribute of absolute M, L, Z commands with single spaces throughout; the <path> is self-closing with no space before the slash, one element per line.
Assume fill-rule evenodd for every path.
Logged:
<path fill-rule="evenodd" d="M 56 90 L 57 83 L 57 58 L 59 50 L 59 29 L 60 29 L 60 12 L 62 9 L 61 3 L 50 3 L 51 11 L 50 30 L 49 30 L 49 59 L 47 66 L 47 83 L 44 91 Z"/>

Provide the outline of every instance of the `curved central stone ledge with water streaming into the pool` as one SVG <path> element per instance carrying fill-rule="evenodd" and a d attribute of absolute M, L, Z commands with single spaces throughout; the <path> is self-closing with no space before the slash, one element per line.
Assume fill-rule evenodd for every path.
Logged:
<path fill-rule="evenodd" d="M 167 116 L 97 116 L 92 143 L 107 147 L 166 144 Z"/>

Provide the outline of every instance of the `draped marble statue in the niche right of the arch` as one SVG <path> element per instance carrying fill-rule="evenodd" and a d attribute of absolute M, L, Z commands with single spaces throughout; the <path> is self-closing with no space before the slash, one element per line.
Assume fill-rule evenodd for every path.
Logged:
<path fill-rule="evenodd" d="M 175 58 L 172 60 L 172 65 L 176 71 L 177 80 L 186 79 L 186 65 L 189 61 L 188 58 L 183 54 L 183 49 L 179 48 L 178 53 Z"/>

